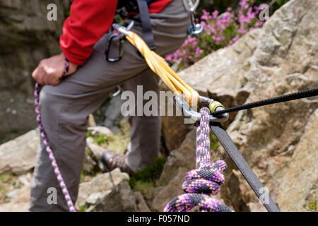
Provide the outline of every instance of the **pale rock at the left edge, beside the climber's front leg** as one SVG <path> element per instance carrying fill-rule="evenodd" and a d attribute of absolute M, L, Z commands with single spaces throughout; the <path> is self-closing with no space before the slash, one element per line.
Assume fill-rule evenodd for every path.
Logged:
<path fill-rule="evenodd" d="M 23 174 L 33 169 L 39 142 L 39 131 L 33 130 L 0 145 L 0 174 L 6 171 Z"/>

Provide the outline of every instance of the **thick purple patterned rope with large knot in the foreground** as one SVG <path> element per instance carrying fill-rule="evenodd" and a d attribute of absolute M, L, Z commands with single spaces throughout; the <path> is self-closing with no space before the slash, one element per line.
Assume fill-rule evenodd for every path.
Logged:
<path fill-rule="evenodd" d="M 182 189 L 187 194 L 177 196 L 165 206 L 165 212 L 186 212 L 199 206 L 201 212 L 231 212 L 224 203 L 212 198 L 220 191 L 224 183 L 222 174 L 227 168 L 223 160 L 211 162 L 210 159 L 210 110 L 204 107 L 200 111 L 201 121 L 196 129 L 196 169 L 187 173 Z"/>

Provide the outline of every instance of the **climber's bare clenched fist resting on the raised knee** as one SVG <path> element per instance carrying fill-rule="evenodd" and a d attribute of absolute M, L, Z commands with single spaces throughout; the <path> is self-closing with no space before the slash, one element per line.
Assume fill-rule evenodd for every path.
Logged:
<path fill-rule="evenodd" d="M 64 54 L 61 53 L 48 59 L 43 59 L 33 71 L 32 77 L 42 85 L 57 85 L 61 81 L 65 69 Z M 77 69 L 76 64 L 69 63 L 68 75 Z"/>

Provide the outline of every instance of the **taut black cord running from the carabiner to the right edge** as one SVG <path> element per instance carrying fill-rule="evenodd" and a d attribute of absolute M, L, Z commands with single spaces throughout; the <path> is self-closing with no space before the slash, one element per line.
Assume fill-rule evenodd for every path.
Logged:
<path fill-rule="evenodd" d="M 312 89 L 309 89 L 309 90 L 302 90 L 302 91 L 299 91 L 299 92 L 296 92 L 296 93 L 290 93 L 290 94 L 282 95 L 282 96 L 279 96 L 279 97 L 272 97 L 272 98 L 269 98 L 269 99 L 266 99 L 266 100 L 260 100 L 260 101 L 257 101 L 257 102 L 252 102 L 252 103 L 248 103 L 248 104 L 245 104 L 245 105 L 240 105 L 240 106 L 237 106 L 237 107 L 231 107 L 231 108 L 228 108 L 228 109 L 222 109 L 222 110 L 220 110 L 218 112 L 213 112 L 212 115 L 213 116 L 217 116 L 217 115 L 224 114 L 224 113 L 227 113 L 227 112 L 237 112 L 237 111 L 240 111 L 240 110 L 251 109 L 251 108 L 254 108 L 254 107 L 261 107 L 261 106 L 265 106 L 265 105 L 273 105 L 273 104 L 277 104 L 277 103 L 280 103 L 280 102 L 285 102 L 285 101 L 290 101 L 290 100 L 298 100 L 298 99 L 301 99 L 301 98 L 313 97 L 313 96 L 317 96 L 317 95 L 318 95 L 318 88 L 312 88 Z"/>

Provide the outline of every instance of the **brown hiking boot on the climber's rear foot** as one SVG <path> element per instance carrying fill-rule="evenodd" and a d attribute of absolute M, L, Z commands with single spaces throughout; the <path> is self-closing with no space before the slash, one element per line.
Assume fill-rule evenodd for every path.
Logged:
<path fill-rule="evenodd" d="M 133 171 L 126 163 L 126 155 L 106 150 L 102 153 L 102 164 L 108 171 L 119 168 L 122 172 L 131 174 Z"/>

